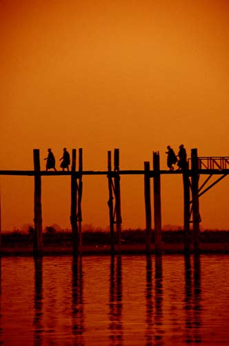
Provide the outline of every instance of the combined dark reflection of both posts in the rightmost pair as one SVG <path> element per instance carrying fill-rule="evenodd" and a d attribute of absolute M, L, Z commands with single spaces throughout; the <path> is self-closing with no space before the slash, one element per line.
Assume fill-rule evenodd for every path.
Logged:
<path fill-rule="evenodd" d="M 184 258 L 185 263 L 185 295 L 184 309 L 186 311 L 186 344 L 201 344 L 201 270 L 200 256 L 194 255 L 193 280 L 190 255 Z"/>

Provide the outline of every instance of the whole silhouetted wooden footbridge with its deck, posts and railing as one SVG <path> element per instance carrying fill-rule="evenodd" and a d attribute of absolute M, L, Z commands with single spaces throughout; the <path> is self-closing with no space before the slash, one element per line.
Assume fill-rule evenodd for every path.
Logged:
<path fill-rule="evenodd" d="M 72 167 L 66 171 L 41 171 L 39 149 L 33 150 L 34 170 L 0 170 L 0 175 L 10 176 L 34 176 L 34 256 L 43 254 L 42 239 L 42 210 L 41 210 L 41 176 L 71 176 L 71 206 L 70 221 L 72 227 L 73 254 L 82 253 L 81 231 L 81 200 L 83 192 L 83 176 L 105 175 L 108 178 L 108 211 L 110 218 L 110 252 L 115 253 L 115 233 L 117 233 L 117 248 L 121 253 L 121 175 L 139 174 L 144 176 L 144 195 L 146 210 L 146 253 L 151 252 L 152 239 L 152 210 L 150 180 L 153 180 L 154 198 L 154 230 L 155 252 L 161 253 L 161 174 L 182 174 L 183 176 L 183 249 L 185 253 L 190 251 L 190 224 L 194 239 L 195 252 L 199 251 L 199 197 L 229 174 L 229 157 L 212 156 L 198 157 L 197 149 L 191 150 L 191 158 L 188 159 L 186 170 L 160 170 L 159 152 L 152 154 L 152 170 L 150 162 L 144 162 L 143 170 L 120 170 L 119 149 L 115 149 L 112 169 L 112 152 L 108 152 L 107 171 L 83 171 L 83 150 L 79 149 L 77 170 L 77 149 L 72 149 Z M 199 187 L 199 176 L 208 175 Z M 214 182 L 210 179 L 214 175 L 220 175 Z M 0 208 L 1 212 L 1 208 Z M 1 230 L 0 230 L 1 231 Z"/>

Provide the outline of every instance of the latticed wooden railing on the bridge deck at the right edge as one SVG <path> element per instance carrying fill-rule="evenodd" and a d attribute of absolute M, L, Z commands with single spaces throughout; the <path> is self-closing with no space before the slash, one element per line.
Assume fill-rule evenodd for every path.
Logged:
<path fill-rule="evenodd" d="M 229 170 L 229 156 L 200 156 L 199 170 Z M 188 159 L 191 167 L 191 159 Z"/>

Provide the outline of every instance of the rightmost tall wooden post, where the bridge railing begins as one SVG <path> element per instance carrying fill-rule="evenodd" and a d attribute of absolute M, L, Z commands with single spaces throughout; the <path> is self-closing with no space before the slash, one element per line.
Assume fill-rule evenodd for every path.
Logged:
<path fill-rule="evenodd" d="M 199 251 L 199 159 L 197 149 L 191 150 L 191 165 L 192 165 L 192 219 L 193 219 L 193 238 L 194 249 Z"/>

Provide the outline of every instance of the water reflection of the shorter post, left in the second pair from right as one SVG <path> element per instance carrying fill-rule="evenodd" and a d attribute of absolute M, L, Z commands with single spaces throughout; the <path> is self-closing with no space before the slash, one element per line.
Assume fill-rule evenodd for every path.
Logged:
<path fill-rule="evenodd" d="M 152 345 L 152 260 L 146 256 L 146 346 Z"/>

